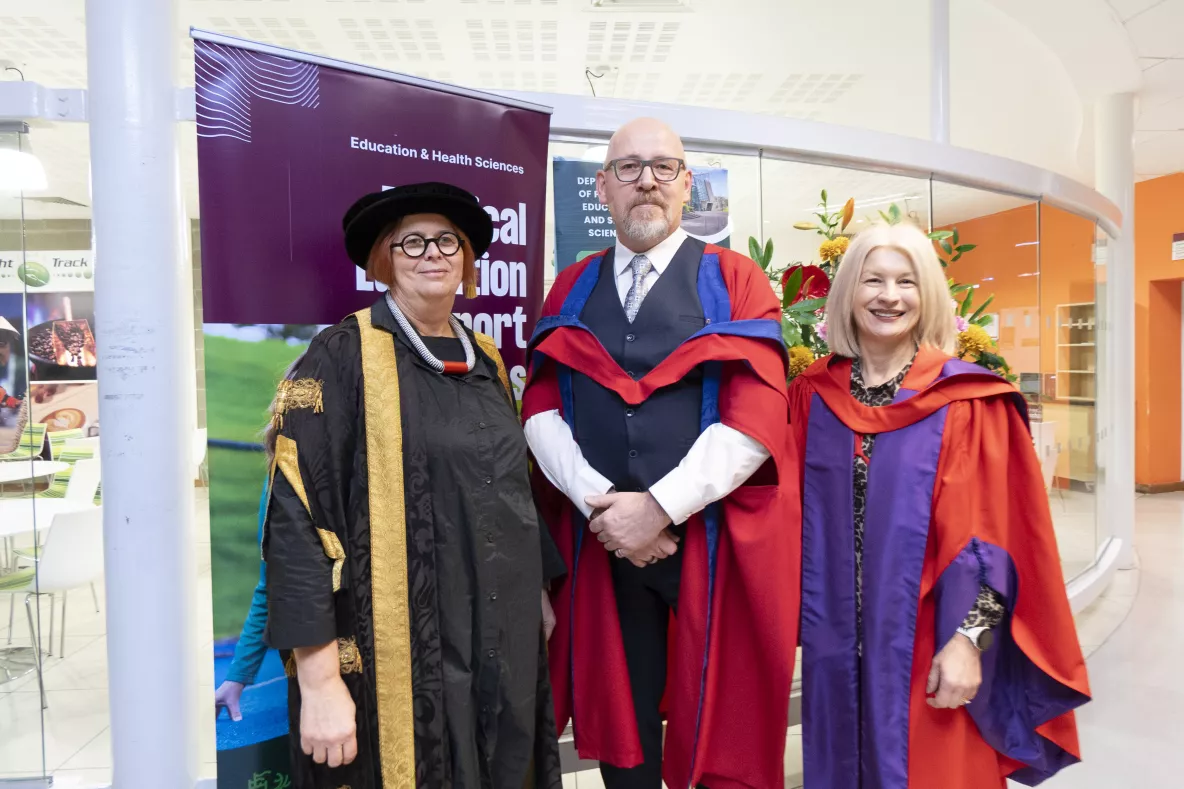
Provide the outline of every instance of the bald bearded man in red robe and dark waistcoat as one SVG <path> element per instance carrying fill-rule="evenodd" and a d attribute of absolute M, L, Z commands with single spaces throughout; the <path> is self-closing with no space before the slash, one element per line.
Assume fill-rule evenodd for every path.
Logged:
<path fill-rule="evenodd" d="M 669 127 L 625 126 L 607 159 L 618 243 L 560 274 L 523 398 L 570 567 L 556 717 L 607 789 L 772 789 L 799 560 L 780 310 L 752 261 L 680 227 L 691 175 Z"/>

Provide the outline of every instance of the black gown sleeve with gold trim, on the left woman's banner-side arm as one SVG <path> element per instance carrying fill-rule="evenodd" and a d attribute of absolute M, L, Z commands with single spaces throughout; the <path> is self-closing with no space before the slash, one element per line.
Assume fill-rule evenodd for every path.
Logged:
<path fill-rule="evenodd" d="M 320 647 L 339 635 L 335 595 L 349 543 L 346 494 L 339 488 L 354 451 L 358 410 L 343 361 L 359 353 L 356 325 L 352 332 L 327 329 L 277 394 L 279 430 L 263 533 L 264 637 L 276 649 Z"/>

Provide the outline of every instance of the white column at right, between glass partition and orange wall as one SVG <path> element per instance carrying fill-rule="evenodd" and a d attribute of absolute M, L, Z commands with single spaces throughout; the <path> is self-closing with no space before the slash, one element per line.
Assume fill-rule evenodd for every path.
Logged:
<path fill-rule="evenodd" d="M 1101 98 L 1094 110 L 1098 191 L 1122 212 L 1122 232 L 1109 242 L 1106 261 L 1106 379 L 1109 397 L 1106 443 L 1106 518 L 1111 533 L 1122 540 L 1119 567 L 1134 557 L 1134 95 Z"/>

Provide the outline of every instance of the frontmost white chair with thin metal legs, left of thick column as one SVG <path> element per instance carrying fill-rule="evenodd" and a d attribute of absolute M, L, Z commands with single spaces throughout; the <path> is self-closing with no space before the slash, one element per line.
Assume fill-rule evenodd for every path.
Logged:
<path fill-rule="evenodd" d="M 8 608 L 8 634 L 12 637 L 17 595 L 25 595 L 25 611 L 28 615 L 28 637 L 37 663 L 37 681 L 41 689 L 41 708 L 45 700 L 45 681 L 41 675 L 41 649 L 33 623 L 33 597 L 50 596 L 49 654 L 53 655 L 53 598 L 62 594 L 62 644 L 66 648 L 66 595 L 71 589 L 94 584 L 103 577 L 103 509 L 91 507 L 78 512 L 59 513 L 53 517 L 53 526 L 45 540 L 45 547 L 32 567 L 0 576 L 0 592 L 12 595 Z"/>

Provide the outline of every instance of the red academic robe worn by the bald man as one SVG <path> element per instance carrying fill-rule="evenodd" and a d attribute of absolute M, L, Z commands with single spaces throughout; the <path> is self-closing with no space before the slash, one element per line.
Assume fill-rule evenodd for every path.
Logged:
<path fill-rule="evenodd" d="M 776 295 L 752 261 L 718 246 L 709 245 L 706 251 L 719 255 L 732 320 L 780 322 Z M 559 314 L 573 284 L 598 257 L 560 274 L 543 304 L 543 317 Z M 530 365 L 523 392 L 523 419 L 562 411 L 559 365 L 637 404 L 697 365 L 723 363 L 721 422 L 764 444 L 771 460 L 722 501 L 710 605 L 703 519 L 695 515 L 688 521 L 667 680 L 663 777 L 671 787 L 781 785 L 800 564 L 799 498 L 796 479 L 784 472 L 784 349 L 767 341 L 708 334 L 684 342 L 639 380 L 631 379 L 599 341 L 579 327 L 555 328 L 533 345 L 532 354 L 540 355 Z M 598 550 L 594 540 L 585 543 L 577 567 L 573 522 L 583 519 L 541 473 L 535 474 L 535 482 L 543 518 L 570 567 L 552 590 L 558 624 L 549 643 L 551 676 L 560 731 L 572 720 L 581 757 L 636 766 L 642 750 L 607 553 Z M 580 538 L 586 534 L 581 531 Z"/>

